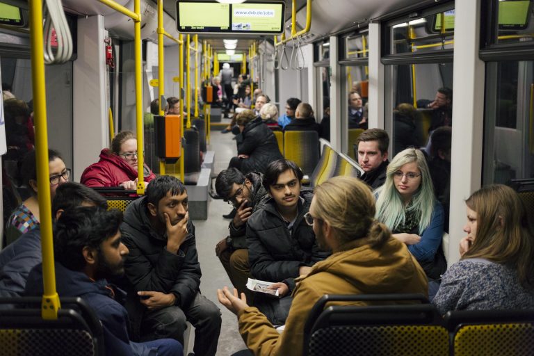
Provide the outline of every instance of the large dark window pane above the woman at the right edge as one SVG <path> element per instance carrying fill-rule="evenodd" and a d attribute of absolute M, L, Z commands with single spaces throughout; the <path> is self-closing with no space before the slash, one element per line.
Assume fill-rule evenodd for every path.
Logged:
<path fill-rule="evenodd" d="M 486 68 L 483 184 L 532 178 L 534 62 L 489 62 Z"/>

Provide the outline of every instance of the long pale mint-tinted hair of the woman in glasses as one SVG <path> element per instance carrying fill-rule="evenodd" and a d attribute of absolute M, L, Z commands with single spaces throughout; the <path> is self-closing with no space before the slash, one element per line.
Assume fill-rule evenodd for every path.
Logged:
<path fill-rule="evenodd" d="M 407 148 L 399 152 L 391 163 L 387 166 L 386 182 L 378 188 L 376 201 L 376 218 L 381 223 L 385 223 L 389 229 L 394 230 L 398 225 L 405 222 L 405 206 L 401 194 L 398 193 L 393 175 L 407 163 L 417 163 L 417 168 L 421 171 L 421 184 L 414 193 L 412 202 L 407 207 L 408 211 L 419 213 L 419 234 L 430 225 L 432 212 L 434 211 L 435 197 L 430 171 L 426 164 L 426 159 L 419 149 Z"/>

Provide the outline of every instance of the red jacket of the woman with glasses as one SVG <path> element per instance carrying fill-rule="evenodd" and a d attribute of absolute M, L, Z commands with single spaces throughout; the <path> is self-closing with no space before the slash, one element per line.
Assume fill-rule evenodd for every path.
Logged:
<path fill-rule="evenodd" d="M 147 183 L 156 178 L 147 165 L 144 165 L 143 176 Z M 134 181 L 137 177 L 137 170 L 124 159 L 104 148 L 100 152 L 100 161 L 93 163 L 83 171 L 80 183 L 90 187 L 119 186 L 124 181 Z"/>

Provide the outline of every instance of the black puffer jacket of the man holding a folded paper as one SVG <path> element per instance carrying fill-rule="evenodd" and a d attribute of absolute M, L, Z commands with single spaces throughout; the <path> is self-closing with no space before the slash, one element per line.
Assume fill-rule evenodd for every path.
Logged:
<path fill-rule="evenodd" d="M 304 215 L 312 204 L 312 190 L 303 188 L 298 202 L 298 216 L 291 229 L 276 210 L 272 197 L 266 197 L 261 207 L 247 222 L 247 245 L 250 273 L 258 280 L 284 282 L 289 289 L 295 286 L 300 266 L 313 266 L 329 252 L 322 251 L 314 230 L 307 225 Z"/>

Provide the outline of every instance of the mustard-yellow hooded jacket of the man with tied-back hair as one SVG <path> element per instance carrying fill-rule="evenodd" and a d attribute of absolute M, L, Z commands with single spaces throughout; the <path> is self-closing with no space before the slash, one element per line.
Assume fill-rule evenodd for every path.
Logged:
<path fill-rule="evenodd" d="M 247 307 L 238 313 L 239 332 L 254 355 L 302 355 L 305 323 L 324 294 L 427 295 L 426 275 L 403 243 L 389 238 L 375 249 L 365 240 L 342 246 L 341 252 L 315 264 L 309 275 L 300 280 L 282 334 L 257 308 Z"/>

